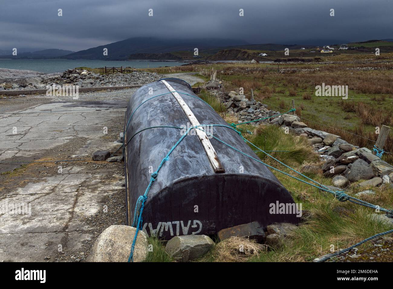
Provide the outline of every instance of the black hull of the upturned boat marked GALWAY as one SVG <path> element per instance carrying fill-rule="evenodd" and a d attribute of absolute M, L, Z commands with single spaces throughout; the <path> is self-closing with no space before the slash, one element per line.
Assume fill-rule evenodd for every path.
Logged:
<path fill-rule="evenodd" d="M 176 90 L 196 96 L 182 80 L 167 79 Z M 149 88 L 152 88 L 149 90 Z M 149 94 L 153 91 L 153 94 Z M 142 86 L 132 95 L 126 124 L 135 109 L 155 95 L 169 90 L 162 82 Z M 200 124 L 226 123 L 208 104 L 180 94 Z M 127 222 L 132 224 L 136 200 L 145 192 L 151 173 L 180 139 L 184 130 L 151 126 L 187 126 L 189 120 L 171 93 L 151 99 L 136 110 L 125 130 Z M 191 126 L 188 124 L 187 127 Z M 259 159 L 233 130 L 213 127 L 222 141 Z M 131 139 L 132 138 L 132 139 Z M 224 173 L 215 173 L 200 140 L 187 135 L 164 163 L 149 191 L 143 210 L 143 229 L 169 240 L 176 235 L 216 234 L 219 230 L 258 221 L 263 227 L 274 222 L 298 223 L 296 212 L 272 214 L 272 205 L 294 203 L 290 193 L 261 163 L 210 139 Z"/>

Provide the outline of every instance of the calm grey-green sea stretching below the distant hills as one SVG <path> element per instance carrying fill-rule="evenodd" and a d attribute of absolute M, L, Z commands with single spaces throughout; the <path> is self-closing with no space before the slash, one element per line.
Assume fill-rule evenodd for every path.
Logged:
<path fill-rule="evenodd" d="M 0 59 L 0 68 L 34 70 L 44 73 L 63 72 L 75 67 L 134 67 L 149 68 L 159 66 L 178 66 L 184 62 L 154 61 L 105 61 L 105 60 L 68 60 L 68 59 Z"/>

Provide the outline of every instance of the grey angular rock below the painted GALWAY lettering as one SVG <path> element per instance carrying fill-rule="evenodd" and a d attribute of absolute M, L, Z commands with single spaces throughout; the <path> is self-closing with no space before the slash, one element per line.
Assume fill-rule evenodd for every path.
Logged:
<path fill-rule="evenodd" d="M 176 236 L 168 241 L 165 252 L 175 260 L 187 262 L 202 257 L 213 245 L 206 235 Z"/>

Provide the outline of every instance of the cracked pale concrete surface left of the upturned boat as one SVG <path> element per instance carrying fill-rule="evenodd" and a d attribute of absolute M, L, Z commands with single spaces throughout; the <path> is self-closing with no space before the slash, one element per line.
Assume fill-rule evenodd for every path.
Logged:
<path fill-rule="evenodd" d="M 83 261 L 103 229 L 125 222 L 123 163 L 91 154 L 119 148 L 134 90 L 0 104 L 0 161 L 62 160 L 0 163 L 0 262 Z"/>

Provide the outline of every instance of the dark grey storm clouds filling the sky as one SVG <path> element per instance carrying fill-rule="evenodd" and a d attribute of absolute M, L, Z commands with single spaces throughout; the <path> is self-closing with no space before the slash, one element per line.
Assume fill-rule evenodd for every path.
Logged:
<path fill-rule="evenodd" d="M 390 0 L 3 0 L 0 49 L 78 51 L 137 36 L 252 44 L 393 38 L 392 10 Z"/>

